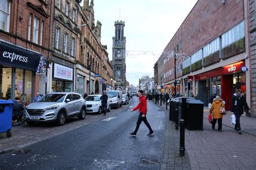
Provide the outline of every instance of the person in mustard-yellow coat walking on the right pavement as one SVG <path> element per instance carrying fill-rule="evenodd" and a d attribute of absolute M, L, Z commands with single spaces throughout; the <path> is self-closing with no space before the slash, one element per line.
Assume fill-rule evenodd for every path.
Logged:
<path fill-rule="evenodd" d="M 210 109 L 210 114 L 212 114 L 213 117 L 212 129 L 214 130 L 215 124 L 218 120 L 218 131 L 221 132 L 223 114 L 220 113 L 220 107 L 225 107 L 225 104 L 219 96 L 216 96 L 216 98 L 213 99 L 213 103 Z"/>

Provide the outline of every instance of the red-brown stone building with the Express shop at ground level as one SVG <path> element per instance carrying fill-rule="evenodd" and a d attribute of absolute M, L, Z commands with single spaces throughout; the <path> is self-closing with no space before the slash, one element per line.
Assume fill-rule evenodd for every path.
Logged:
<path fill-rule="evenodd" d="M 52 0 L 0 2 L 0 99 L 32 101 L 45 93 L 43 75 L 52 53 Z"/>

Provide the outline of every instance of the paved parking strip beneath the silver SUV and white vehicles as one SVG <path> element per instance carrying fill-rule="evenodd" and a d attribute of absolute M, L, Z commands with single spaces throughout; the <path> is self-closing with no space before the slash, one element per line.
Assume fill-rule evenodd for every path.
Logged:
<path fill-rule="evenodd" d="M 111 112 L 107 112 L 107 117 L 115 115 L 118 112 L 125 110 L 127 107 L 129 107 L 129 105 L 123 105 L 123 107 L 119 107 L 118 109 L 112 109 Z M 6 133 L 0 133 L 0 154 L 36 144 L 39 141 L 76 130 L 79 127 L 89 125 L 102 119 L 105 119 L 103 114 L 87 113 L 84 120 L 79 120 L 78 118 L 68 119 L 64 126 L 56 126 L 55 124 L 47 123 L 37 124 L 35 126 L 30 126 L 28 124 L 12 126 L 11 138 L 6 138 Z"/>

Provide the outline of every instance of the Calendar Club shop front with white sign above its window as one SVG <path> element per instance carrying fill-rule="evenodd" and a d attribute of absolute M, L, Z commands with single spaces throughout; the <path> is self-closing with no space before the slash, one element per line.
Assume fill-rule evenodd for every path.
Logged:
<path fill-rule="evenodd" d="M 73 92 L 73 69 L 53 63 L 52 92 Z"/>

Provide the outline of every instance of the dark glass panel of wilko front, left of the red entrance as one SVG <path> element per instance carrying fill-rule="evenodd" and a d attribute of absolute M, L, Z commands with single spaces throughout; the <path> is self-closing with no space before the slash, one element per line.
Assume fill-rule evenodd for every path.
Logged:
<path fill-rule="evenodd" d="M 204 106 L 208 106 L 210 99 L 210 82 L 209 80 L 199 81 L 198 98 L 203 101 Z"/>

